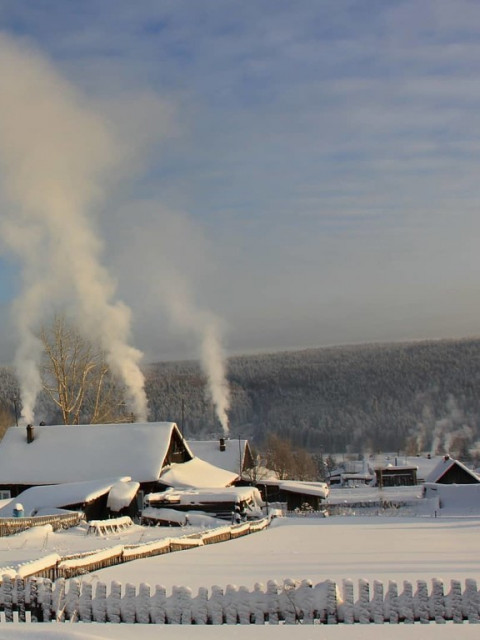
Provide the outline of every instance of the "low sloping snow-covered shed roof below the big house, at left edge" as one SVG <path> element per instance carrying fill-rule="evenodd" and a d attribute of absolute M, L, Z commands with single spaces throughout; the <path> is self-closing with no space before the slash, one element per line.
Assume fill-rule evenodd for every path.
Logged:
<path fill-rule="evenodd" d="M 12 515 L 13 505 L 20 503 L 26 516 L 48 508 L 66 507 L 84 504 L 96 500 L 117 483 L 128 481 L 130 478 L 104 478 L 89 480 L 88 482 L 68 482 L 65 484 L 31 487 L 20 493 L 10 504 L 0 509 L 0 516 L 5 518 Z"/>

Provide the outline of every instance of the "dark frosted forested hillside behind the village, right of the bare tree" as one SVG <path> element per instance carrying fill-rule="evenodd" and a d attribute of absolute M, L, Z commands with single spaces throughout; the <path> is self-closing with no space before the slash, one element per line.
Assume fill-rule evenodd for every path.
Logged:
<path fill-rule="evenodd" d="M 275 432 L 312 451 L 461 451 L 480 439 L 480 339 L 308 349 L 233 357 L 232 433 Z M 152 420 L 218 434 L 193 362 L 147 371 Z"/>

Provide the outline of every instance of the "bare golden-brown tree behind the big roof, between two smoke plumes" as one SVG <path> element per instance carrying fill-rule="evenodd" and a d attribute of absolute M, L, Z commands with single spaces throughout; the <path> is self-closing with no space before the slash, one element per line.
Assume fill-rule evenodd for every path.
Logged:
<path fill-rule="evenodd" d="M 64 314 L 42 327 L 42 382 L 60 409 L 64 424 L 128 422 L 123 389 L 111 374 L 105 354 Z"/>

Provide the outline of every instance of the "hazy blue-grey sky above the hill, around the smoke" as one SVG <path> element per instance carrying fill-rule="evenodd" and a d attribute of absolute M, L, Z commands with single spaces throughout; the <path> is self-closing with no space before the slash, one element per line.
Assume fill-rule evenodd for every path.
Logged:
<path fill-rule="evenodd" d="M 0 30 L 113 132 L 88 216 L 147 361 L 196 354 L 177 291 L 229 353 L 480 333 L 478 0 L 3 0 Z"/>

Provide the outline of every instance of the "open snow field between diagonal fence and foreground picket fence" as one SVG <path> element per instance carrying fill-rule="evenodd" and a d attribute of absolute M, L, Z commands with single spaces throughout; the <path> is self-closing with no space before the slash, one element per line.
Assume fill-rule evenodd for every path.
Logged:
<path fill-rule="evenodd" d="M 279 518 L 230 542 L 99 571 L 109 583 L 252 587 L 269 579 L 480 578 L 480 518 Z"/>

